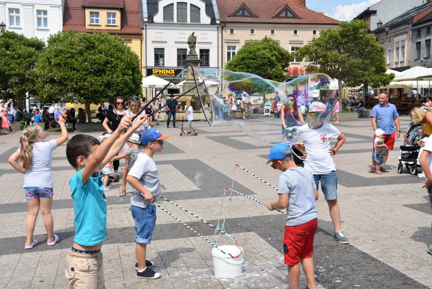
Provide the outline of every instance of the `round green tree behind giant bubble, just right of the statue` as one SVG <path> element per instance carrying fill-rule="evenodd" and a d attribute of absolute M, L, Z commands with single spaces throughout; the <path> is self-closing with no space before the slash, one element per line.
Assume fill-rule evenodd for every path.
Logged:
<path fill-rule="evenodd" d="M 264 79 L 283 82 L 287 80 L 284 70 L 292 60 L 293 55 L 282 48 L 279 42 L 265 37 L 262 40 L 246 42 L 232 60 L 227 63 L 225 69 L 256 74 Z M 227 75 L 227 80 L 231 80 L 229 75 Z M 251 83 L 248 86 L 255 87 L 257 90 L 266 90 L 269 87 L 262 81 L 251 80 L 249 82 Z"/>

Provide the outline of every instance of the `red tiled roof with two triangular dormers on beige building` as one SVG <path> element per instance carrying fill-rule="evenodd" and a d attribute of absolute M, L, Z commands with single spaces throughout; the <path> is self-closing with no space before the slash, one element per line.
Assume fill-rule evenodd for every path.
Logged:
<path fill-rule="evenodd" d="M 287 0 L 272 0 L 271 2 L 258 0 L 216 0 L 216 3 L 221 22 L 339 24 L 339 21 L 336 19 L 296 4 L 299 1 L 294 3 Z M 242 5 L 246 6 L 257 17 L 230 16 Z M 285 6 L 299 18 L 275 17 Z"/>

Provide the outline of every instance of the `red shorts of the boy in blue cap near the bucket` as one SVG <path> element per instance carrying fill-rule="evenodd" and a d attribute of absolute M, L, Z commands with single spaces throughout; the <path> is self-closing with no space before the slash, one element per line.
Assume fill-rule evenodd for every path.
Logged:
<path fill-rule="evenodd" d="M 317 218 L 299 226 L 285 226 L 283 236 L 285 265 L 297 265 L 300 259 L 312 257 L 316 229 L 318 229 Z"/>

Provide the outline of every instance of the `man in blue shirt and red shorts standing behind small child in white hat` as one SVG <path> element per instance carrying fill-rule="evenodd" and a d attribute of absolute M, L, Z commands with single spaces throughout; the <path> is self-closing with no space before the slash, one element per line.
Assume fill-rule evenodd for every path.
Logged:
<path fill-rule="evenodd" d="M 381 91 L 378 96 L 378 104 L 374 106 L 371 113 L 372 127 L 374 132 L 377 129 L 384 131 L 384 143 L 387 145 L 388 151 L 393 150 L 395 138 L 399 138 L 401 135 L 401 129 L 399 126 L 399 114 L 396 107 L 388 103 L 388 92 Z M 396 133 L 394 133 L 394 125 L 396 126 Z M 374 136 L 375 141 L 375 136 Z M 375 150 L 375 148 L 374 148 Z M 388 172 L 385 169 L 385 163 L 387 161 L 388 154 L 384 155 L 384 163 L 381 165 L 381 172 Z M 375 173 L 375 159 L 372 151 L 372 169 L 369 171 Z"/>

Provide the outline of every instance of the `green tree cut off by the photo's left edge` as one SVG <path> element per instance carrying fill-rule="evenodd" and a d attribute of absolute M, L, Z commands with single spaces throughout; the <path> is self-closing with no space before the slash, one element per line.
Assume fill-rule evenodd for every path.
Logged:
<path fill-rule="evenodd" d="M 20 106 L 25 93 L 34 94 L 37 61 L 45 44 L 37 38 L 26 38 L 13 31 L 0 34 L 0 98 L 18 99 Z"/>

